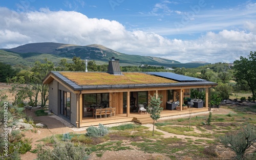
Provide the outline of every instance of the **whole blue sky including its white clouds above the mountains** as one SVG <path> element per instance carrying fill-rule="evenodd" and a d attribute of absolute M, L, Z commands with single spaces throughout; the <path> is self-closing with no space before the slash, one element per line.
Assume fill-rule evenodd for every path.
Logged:
<path fill-rule="evenodd" d="M 255 51 L 256 1 L 1 1 L 0 48 L 101 44 L 125 54 L 233 62 Z"/>

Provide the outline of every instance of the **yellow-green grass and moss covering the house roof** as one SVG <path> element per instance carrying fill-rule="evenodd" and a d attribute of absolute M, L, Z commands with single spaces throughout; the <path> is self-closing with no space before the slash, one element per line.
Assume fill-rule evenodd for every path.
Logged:
<path fill-rule="evenodd" d="M 93 72 L 60 72 L 61 75 L 78 85 L 114 85 L 114 84 L 146 84 L 146 83 L 177 83 L 166 78 L 146 75 L 144 73 L 123 73 L 111 75 Z"/>

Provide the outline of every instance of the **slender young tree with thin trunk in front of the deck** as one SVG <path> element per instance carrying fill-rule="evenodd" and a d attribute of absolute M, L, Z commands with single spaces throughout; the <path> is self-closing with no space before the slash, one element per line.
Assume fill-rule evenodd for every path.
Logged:
<path fill-rule="evenodd" d="M 154 94 L 154 96 L 150 95 L 150 102 L 148 107 L 146 108 L 146 111 L 150 113 L 150 117 L 154 120 L 153 121 L 153 136 L 154 136 L 154 130 L 155 130 L 155 121 L 157 121 L 160 118 L 160 113 L 163 110 L 162 107 L 160 107 L 161 96 L 158 96 Z"/>

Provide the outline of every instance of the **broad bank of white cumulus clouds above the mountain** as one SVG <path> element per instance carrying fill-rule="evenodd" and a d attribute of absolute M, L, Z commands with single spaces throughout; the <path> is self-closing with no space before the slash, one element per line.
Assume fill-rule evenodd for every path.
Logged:
<path fill-rule="evenodd" d="M 169 39 L 154 32 L 129 31 L 120 22 L 88 18 L 75 11 L 41 9 L 17 13 L 0 8 L 0 48 L 31 42 L 58 42 L 78 45 L 102 44 L 125 54 L 157 56 L 180 62 L 233 62 L 247 57 L 256 44 L 253 32 L 223 30 L 207 32 L 195 40 Z M 248 22 L 253 31 L 255 26 Z"/>

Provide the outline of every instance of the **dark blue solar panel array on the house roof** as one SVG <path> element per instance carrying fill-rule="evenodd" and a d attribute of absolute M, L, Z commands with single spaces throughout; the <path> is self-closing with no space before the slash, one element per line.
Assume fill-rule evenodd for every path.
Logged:
<path fill-rule="evenodd" d="M 170 72 L 147 72 L 147 74 L 175 80 L 178 82 L 206 81 L 204 79 L 188 77 L 188 76 L 184 76 L 184 75 L 178 75 L 178 74 L 170 73 Z"/>

